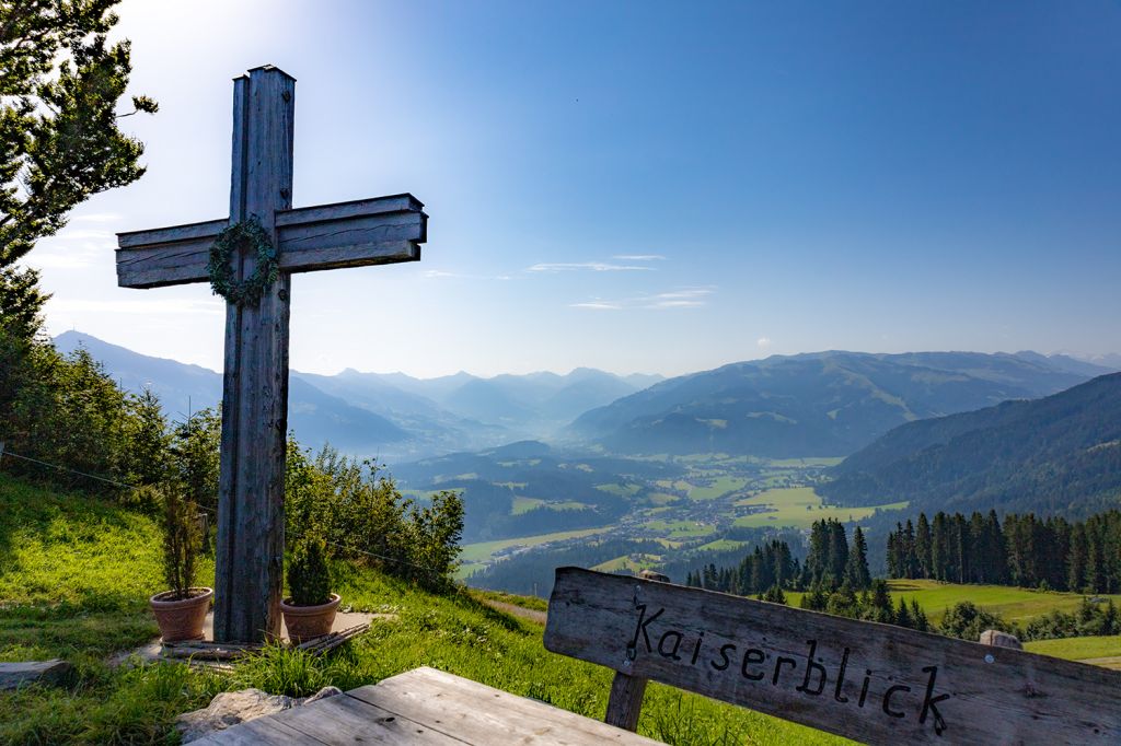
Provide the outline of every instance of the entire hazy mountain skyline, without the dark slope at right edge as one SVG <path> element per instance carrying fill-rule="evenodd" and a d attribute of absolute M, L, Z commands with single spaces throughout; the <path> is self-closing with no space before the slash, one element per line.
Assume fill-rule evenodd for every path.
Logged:
<path fill-rule="evenodd" d="M 173 419 L 215 405 L 221 374 L 67 332 L 119 383 L 155 391 Z M 824 352 L 664 380 L 581 367 L 489 379 L 460 372 L 293 371 L 289 427 L 305 446 L 401 463 L 522 439 L 619 454 L 846 456 L 906 422 L 1062 391 L 1110 369 L 1063 355 Z"/>

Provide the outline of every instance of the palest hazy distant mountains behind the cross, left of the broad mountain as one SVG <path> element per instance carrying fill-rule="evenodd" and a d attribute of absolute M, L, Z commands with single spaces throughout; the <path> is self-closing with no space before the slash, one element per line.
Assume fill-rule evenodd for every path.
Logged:
<path fill-rule="evenodd" d="M 85 348 L 126 390 L 151 389 L 172 419 L 221 402 L 222 375 L 209 369 L 141 355 L 78 332 L 61 334 L 54 344 L 64 354 Z M 491 379 L 462 372 L 416 379 L 350 369 L 336 375 L 291 371 L 288 426 L 313 448 L 330 441 L 344 453 L 381 460 L 423 458 L 548 437 L 587 409 L 661 380 L 593 369 Z"/>

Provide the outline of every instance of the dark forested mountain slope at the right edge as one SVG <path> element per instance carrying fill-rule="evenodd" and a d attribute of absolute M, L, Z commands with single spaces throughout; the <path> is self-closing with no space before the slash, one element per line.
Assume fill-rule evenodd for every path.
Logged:
<path fill-rule="evenodd" d="M 832 469 L 832 501 L 1084 516 L 1121 497 L 1121 373 L 1034 401 L 910 422 Z"/>

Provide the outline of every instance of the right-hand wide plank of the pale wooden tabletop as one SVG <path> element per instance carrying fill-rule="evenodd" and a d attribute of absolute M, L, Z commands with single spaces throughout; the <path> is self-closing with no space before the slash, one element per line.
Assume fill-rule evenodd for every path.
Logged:
<path fill-rule="evenodd" d="M 652 746 L 657 743 L 552 705 L 428 668 L 348 693 L 469 744 Z"/>

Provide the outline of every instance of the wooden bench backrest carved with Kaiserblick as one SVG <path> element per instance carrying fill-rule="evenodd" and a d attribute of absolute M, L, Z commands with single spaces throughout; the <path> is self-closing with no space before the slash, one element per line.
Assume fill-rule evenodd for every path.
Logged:
<path fill-rule="evenodd" d="M 698 588 L 559 568 L 545 646 L 869 744 L 1119 744 L 1121 672 Z"/>

